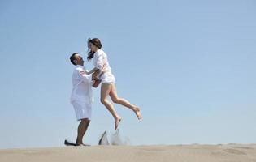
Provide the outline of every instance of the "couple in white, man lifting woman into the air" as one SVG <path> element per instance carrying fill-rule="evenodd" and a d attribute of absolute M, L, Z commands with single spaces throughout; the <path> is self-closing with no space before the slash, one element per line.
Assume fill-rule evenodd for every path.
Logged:
<path fill-rule="evenodd" d="M 97 87 L 99 83 L 101 86 L 101 102 L 106 109 L 112 114 L 115 119 L 115 130 L 119 126 L 121 117 L 116 113 L 113 104 L 107 100 L 107 96 L 111 96 L 111 100 L 116 104 L 122 104 L 128 109 L 131 109 L 141 120 L 140 109 L 117 96 L 115 87 L 115 77 L 111 73 L 111 66 L 107 60 L 106 53 L 102 50 L 101 41 L 98 38 L 88 40 L 88 56 L 87 60 L 93 59 L 93 70 L 85 70 L 83 57 L 79 53 L 73 53 L 70 61 L 76 66 L 72 75 L 72 96 L 71 103 L 75 109 L 76 119 L 80 121 L 77 130 L 76 146 L 85 146 L 83 143 L 83 136 L 89 126 L 92 113 L 93 93 L 92 86 Z"/>

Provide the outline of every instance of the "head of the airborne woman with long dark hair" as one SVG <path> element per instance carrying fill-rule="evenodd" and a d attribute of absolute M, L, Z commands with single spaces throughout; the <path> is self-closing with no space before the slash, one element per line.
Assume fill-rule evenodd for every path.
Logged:
<path fill-rule="evenodd" d="M 98 38 L 93 38 L 93 39 L 88 39 L 87 45 L 88 45 L 87 60 L 89 61 L 90 59 L 93 58 L 94 53 L 96 53 L 98 49 L 102 49 L 102 43 L 101 43 L 101 40 L 99 40 Z"/>

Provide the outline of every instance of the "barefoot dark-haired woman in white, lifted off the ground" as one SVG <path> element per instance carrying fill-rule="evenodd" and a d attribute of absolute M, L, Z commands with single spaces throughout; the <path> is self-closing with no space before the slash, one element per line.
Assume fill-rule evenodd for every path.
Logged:
<path fill-rule="evenodd" d="M 140 109 L 125 100 L 124 98 L 119 98 L 117 96 L 116 87 L 115 87 L 115 76 L 111 72 L 111 66 L 107 60 L 106 53 L 102 50 L 101 41 L 98 38 L 93 38 L 92 40 L 88 40 L 88 61 L 93 58 L 93 70 L 89 71 L 89 74 L 93 74 L 94 72 L 100 70 L 100 74 L 98 78 L 102 80 L 101 87 L 101 102 L 105 105 L 106 109 L 110 111 L 112 116 L 115 119 L 115 130 L 117 129 L 119 122 L 121 121 L 121 117 L 119 117 L 118 113 L 116 113 L 114 105 L 111 104 L 109 100 L 107 100 L 107 96 L 111 96 L 111 100 L 115 104 L 122 104 L 128 109 L 131 109 L 137 116 L 139 120 L 142 119 Z"/>

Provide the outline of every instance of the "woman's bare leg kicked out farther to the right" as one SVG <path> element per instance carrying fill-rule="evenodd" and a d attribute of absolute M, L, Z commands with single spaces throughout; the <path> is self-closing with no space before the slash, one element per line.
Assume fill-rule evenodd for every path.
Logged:
<path fill-rule="evenodd" d="M 127 107 L 128 109 L 132 109 L 132 111 L 136 114 L 138 119 L 139 120 L 142 119 L 141 111 L 140 111 L 140 109 L 136 105 L 131 104 L 128 100 L 125 100 L 124 98 L 119 98 L 119 96 L 117 96 L 117 91 L 116 91 L 115 84 L 111 84 L 110 96 L 111 96 L 111 100 L 115 104 L 122 104 L 125 107 Z"/>

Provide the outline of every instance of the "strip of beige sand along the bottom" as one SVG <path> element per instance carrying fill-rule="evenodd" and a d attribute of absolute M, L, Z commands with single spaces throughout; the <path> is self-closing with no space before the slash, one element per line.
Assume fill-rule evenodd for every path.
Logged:
<path fill-rule="evenodd" d="M 0 150 L 1 162 L 256 162 L 256 144 L 51 147 Z"/>

